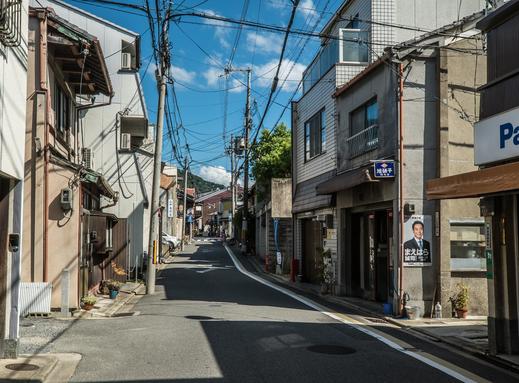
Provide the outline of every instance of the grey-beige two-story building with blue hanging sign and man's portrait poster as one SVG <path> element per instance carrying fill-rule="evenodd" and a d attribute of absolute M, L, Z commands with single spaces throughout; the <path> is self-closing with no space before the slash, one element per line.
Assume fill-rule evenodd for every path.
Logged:
<path fill-rule="evenodd" d="M 486 315 L 483 221 L 475 199 L 436 204 L 424 186 L 438 174 L 470 171 L 477 88 L 485 79 L 483 12 L 387 52 L 336 93 L 335 192 L 341 288 L 348 295 L 431 313 L 458 284 L 470 313 Z M 419 232 L 422 232 L 420 234 Z"/>

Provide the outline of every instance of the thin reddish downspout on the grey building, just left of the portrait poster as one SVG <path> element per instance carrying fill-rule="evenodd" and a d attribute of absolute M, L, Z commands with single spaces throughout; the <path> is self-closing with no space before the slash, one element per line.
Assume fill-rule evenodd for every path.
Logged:
<path fill-rule="evenodd" d="M 398 182 L 399 182 L 399 215 L 400 215 L 400 233 L 399 233 L 399 241 L 398 241 L 398 252 L 400 254 L 399 260 L 399 287 L 398 292 L 400 296 L 400 304 L 399 304 L 399 314 L 401 315 L 403 312 L 403 279 L 404 279 L 404 254 L 402 251 L 402 243 L 404 238 L 404 113 L 403 113 L 403 106 L 404 106 L 404 100 L 403 100 L 403 93 L 404 93 L 404 69 L 403 64 L 399 63 L 399 70 L 398 70 L 398 106 L 399 106 L 399 113 L 398 113 L 398 138 L 399 138 L 399 148 L 398 148 Z"/>

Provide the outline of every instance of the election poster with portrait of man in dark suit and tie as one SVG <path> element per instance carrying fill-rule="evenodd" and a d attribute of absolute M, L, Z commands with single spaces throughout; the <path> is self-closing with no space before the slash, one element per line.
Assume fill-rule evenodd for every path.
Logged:
<path fill-rule="evenodd" d="M 404 222 L 404 266 L 432 265 L 432 219 L 412 215 Z"/>

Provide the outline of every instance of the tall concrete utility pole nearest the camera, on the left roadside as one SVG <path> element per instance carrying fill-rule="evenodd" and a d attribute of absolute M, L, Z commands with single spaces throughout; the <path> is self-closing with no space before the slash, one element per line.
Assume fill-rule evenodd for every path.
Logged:
<path fill-rule="evenodd" d="M 162 159 L 162 127 L 164 123 L 164 101 L 166 98 L 166 78 L 169 71 L 169 10 L 166 20 L 162 24 L 160 36 L 160 52 L 156 76 L 159 90 L 159 106 L 157 110 L 157 129 L 155 132 L 155 153 L 153 158 L 153 190 L 151 193 L 151 211 L 150 211 L 150 235 L 148 243 L 148 270 L 146 273 L 146 294 L 155 293 L 155 255 L 159 251 L 161 241 L 158 233 L 158 214 L 159 208 L 159 192 L 160 192 L 160 172 Z"/>

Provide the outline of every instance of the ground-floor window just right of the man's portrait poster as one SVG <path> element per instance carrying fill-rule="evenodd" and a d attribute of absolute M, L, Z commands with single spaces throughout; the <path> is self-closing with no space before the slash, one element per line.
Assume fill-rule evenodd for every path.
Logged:
<path fill-rule="evenodd" d="M 484 222 L 451 222 L 451 270 L 484 271 Z"/>

